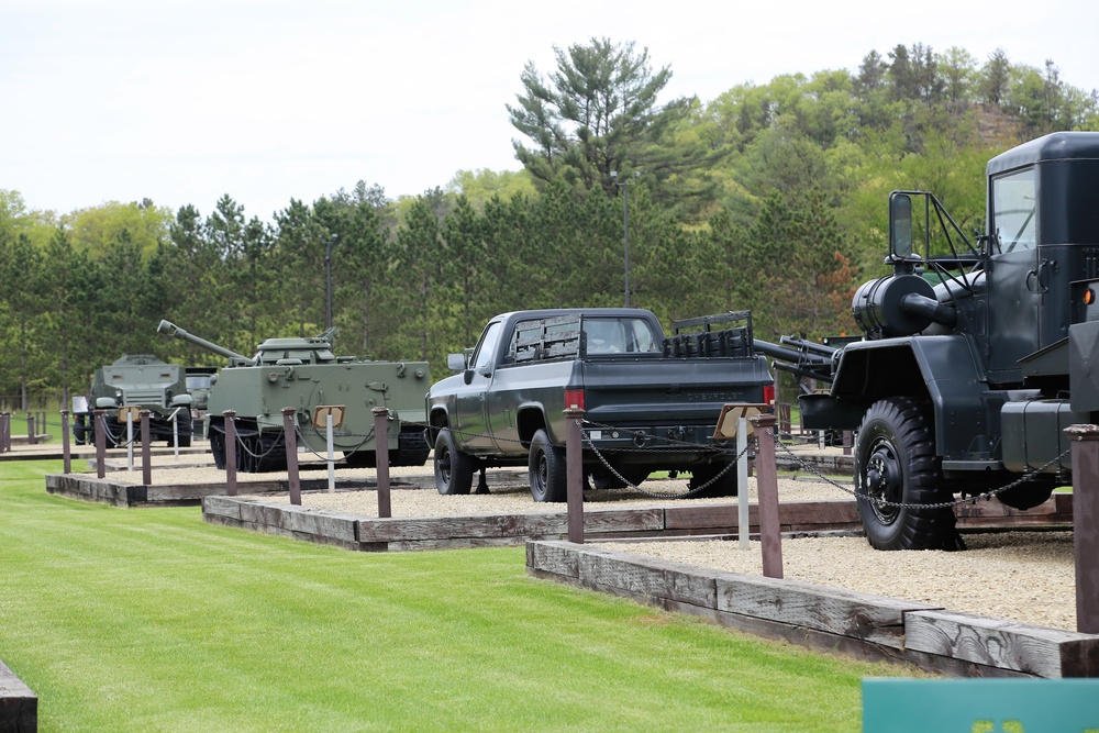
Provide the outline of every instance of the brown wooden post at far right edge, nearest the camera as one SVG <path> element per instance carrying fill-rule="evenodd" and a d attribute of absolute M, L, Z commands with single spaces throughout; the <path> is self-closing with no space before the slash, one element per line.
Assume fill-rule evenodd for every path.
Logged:
<path fill-rule="evenodd" d="M 1099 634 L 1099 425 L 1072 425 L 1076 631 Z"/>

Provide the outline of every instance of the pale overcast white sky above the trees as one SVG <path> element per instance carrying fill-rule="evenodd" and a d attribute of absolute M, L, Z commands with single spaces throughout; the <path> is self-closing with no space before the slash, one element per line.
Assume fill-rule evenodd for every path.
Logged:
<path fill-rule="evenodd" d="M 665 99 L 915 43 L 1099 88 L 1096 0 L 0 0 L 0 189 L 59 213 L 229 193 L 269 221 L 359 180 L 396 198 L 518 170 L 524 65 L 596 36 L 670 65 Z"/>

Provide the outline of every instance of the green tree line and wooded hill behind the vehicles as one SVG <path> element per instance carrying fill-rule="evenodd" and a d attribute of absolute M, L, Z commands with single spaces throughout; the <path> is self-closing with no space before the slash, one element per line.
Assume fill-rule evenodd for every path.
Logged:
<path fill-rule="evenodd" d="M 977 227 L 989 157 L 1099 129 L 1095 91 L 1002 51 L 979 65 L 899 45 L 856 73 L 663 104 L 670 67 L 647 49 L 556 51 L 507 105 L 519 173 L 397 201 L 359 181 L 270 222 L 227 195 L 206 215 L 148 200 L 57 215 L 0 189 L 4 407 L 84 393 L 123 354 L 222 363 L 157 335 L 162 318 L 243 354 L 331 318 L 337 353 L 426 359 L 439 378 L 498 312 L 623 304 L 626 248 L 630 303 L 666 324 L 752 309 L 766 338 L 850 332 L 854 288 L 884 274 L 889 190 L 932 190 Z"/>

